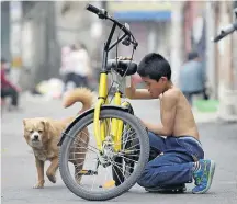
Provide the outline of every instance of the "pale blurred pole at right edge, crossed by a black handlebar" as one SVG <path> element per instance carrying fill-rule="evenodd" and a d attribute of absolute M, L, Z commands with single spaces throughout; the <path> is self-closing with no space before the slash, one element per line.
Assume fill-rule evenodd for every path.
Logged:
<path fill-rule="evenodd" d="M 226 26 L 227 24 L 233 22 L 230 18 L 230 12 L 233 8 L 230 8 L 232 2 L 223 1 L 219 2 L 219 11 L 221 11 L 221 23 L 219 27 Z M 232 49 L 232 37 L 228 36 L 222 39 L 218 43 L 218 50 L 221 58 L 219 61 L 219 86 L 218 86 L 218 97 L 219 97 L 219 109 L 218 109 L 218 117 L 224 121 L 237 121 L 237 90 L 234 90 L 234 81 L 233 81 L 233 49 Z"/>

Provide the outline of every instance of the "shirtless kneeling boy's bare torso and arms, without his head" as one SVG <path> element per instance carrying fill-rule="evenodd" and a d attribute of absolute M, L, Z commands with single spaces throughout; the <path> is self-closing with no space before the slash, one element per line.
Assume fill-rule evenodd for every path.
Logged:
<path fill-rule="evenodd" d="M 156 99 L 147 89 L 135 89 L 133 84 L 126 89 L 126 95 L 129 99 Z M 194 116 L 183 93 L 172 86 L 172 88 L 160 94 L 159 100 L 161 124 L 148 124 L 146 122 L 144 124 L 159 135 L 192 136 L 199 139 Z"/>

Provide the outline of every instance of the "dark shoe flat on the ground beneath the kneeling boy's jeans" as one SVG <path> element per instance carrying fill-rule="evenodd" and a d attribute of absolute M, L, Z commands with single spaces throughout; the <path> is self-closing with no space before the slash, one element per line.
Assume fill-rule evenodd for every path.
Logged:
<path fill-rule="evenodd" d="M 145 188 L 146 191 L 151 193 L 183 193 L 187 191 L 185 184 Z"/>

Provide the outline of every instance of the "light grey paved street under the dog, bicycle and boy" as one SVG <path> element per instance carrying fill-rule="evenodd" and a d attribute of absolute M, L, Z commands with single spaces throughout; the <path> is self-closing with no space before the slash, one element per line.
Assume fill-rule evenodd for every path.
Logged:
<path fill-rule="evenodd" d="M 27 100 L 27 102 L 26 102 Z M 159 118 L 158 102 L 134 101 L 134 109 L 138 116 L 154 122 Z M 1 183 L 2 203 L 5 204 L 52 204 L 52 203 L 89 203 L 75 196 L 64 185 L 59 172 L 57 183 L 46 179 L 45 189 L 32 189 L 36 181 L 34 157 L 23 138 L 22 120 L 24 117 L 50 116 L 63 118 L 75 114 L 79 104 L 64 110 L 60 101 L 44 101 L 41 98 L 22 100 L 24 109 L 21 113 L 4 113 L 1 123 Z M 156 111 L 154 111 L 156 109 Z M 150 116 L 153 115 L 153 116 Z M 202 123 L 199 124 L 201 141 L 205 149 L 205 157 L 216 161 L 216 173 L 212 189 L 207 194 L 193 195 L 192 184 L 188 184 L 185 194 L 151 194 L 139 186 L 134 186 L 106 203 L 237 203 L 237 124 Z M 91 202 L 100 203 L 100 202 Z"/>

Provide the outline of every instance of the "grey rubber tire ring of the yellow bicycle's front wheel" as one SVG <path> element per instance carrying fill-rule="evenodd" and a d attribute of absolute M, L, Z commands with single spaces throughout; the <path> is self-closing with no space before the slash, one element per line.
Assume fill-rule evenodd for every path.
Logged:
<path fill-rule="evenodd" d="M 149 138 L 147 136 L 147 132 L 145 127 L 142 125 L 140 121 L 136 116 L 121 110 L 114 110 L 114 109 L 101 110 L 101 114 L 100 114 L 101 118 L 108 118 L 108 117 L 120 118 L 128 123 L 133 127 L 133 129 L 136 132 L 139 138 L 140 156 L 136 166 L 136 170 L 120 186 L 116 186 L 106 192 L 102 191 L 99 193 L 91 193 L 91 191 L 84 190 L 72 180 L 69 173 L 67 162 L 68 162 L 68 154 L 70 151 L 70 144 L 72 143 L 74 139 L 72 137 L 76 136 L 77 133 L 80 132 L 80 129 L 84 128 L 84 126 L 91 123 L 91 121 L 93 121 L 93 115 L 94 112 L 86 115 L 78 123 L 76 123 L 69 131 L 68 135 L 70 135 L 70 137 L 67 136 L 65 138 L 59 151 L 59 171 L 65 185 L 77 196 L 88 201 L 106 201 L 106 200 L 117 197 L 122 195 L 124 192 L 127 192 L 137 182 L 137 180 L 142 175 L 146 167 L 146 163 L 148 162 Z"/>

